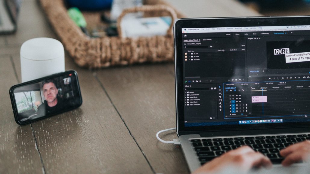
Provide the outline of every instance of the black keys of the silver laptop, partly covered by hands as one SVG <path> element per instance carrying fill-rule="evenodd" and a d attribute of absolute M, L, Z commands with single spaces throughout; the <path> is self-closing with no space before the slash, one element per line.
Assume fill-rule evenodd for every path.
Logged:
<path fill-rule="evenodd" d="M 280 150 L 294 143 L 310 140 L 310 134 L 189 139 L 201 165 L 229 150 L 247 145 L 266 155 L 272 163 L 279 164 L 284 159 Z"/>

